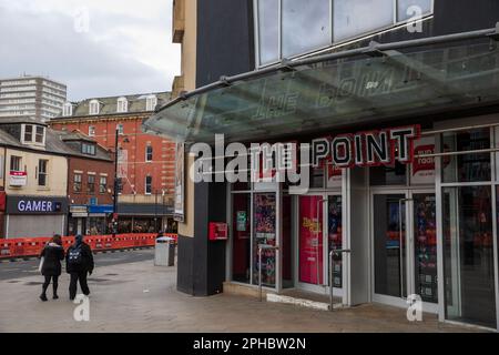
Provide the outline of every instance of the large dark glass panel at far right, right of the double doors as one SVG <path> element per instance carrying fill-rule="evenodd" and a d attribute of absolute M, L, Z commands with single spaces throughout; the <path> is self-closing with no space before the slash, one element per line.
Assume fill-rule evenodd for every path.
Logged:
<path fill-rule="evenodd" d="M 496 327 L 491 186 L 442 191 L 448 320 Z"/>

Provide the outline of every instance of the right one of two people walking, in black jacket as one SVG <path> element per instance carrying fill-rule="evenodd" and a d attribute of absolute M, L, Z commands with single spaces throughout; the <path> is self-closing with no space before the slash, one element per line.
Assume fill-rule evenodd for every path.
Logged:
<path fill-rule="evenodd" d="M 80 288 L 85 296 L 90 295 L 86 275 L 93 272 L 93 255 L 90 245 L 83 242 L 83 235 L 78 234 L 74 244 L 71 245 L 65 254 L 65 271 L 71 275 L 70 280 L 70 300 L 77 296 L 77 283 L 80 282 Z"/>

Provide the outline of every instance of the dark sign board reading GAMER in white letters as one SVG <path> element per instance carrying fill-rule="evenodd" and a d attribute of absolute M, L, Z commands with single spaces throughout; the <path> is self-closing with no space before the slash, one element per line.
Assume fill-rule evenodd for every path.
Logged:
<path fill-rule="evenodd" d="M 68 199 L 38 196 L 7 196 L 8 214 L 65 214 Z"/>

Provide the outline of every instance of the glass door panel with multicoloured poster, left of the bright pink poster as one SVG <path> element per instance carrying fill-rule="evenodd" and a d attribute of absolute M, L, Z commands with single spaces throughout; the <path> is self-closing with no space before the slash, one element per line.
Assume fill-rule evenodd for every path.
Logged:
<path fill-rule="evenodd" d="M 276 245 L 277 203 L 275 193 L 254 194 L 253 283 L 258 284 L 258 245 Z M 262 252 L 262 284 L 275 287 L 275 250 Z"/>

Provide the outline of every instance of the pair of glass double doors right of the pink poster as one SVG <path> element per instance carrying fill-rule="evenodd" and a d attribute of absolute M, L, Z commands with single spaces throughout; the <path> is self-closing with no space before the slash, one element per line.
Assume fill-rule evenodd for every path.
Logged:
<path fill-rule="evenodd" d="M 436 203 L 432 192 L 373 195 L 374 300 L 405 305 L 409 294 L 436 304 Z M 428 305 L 427 310 L 436 311 Z"/>

